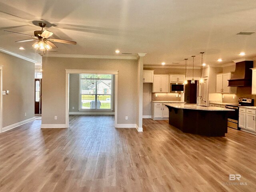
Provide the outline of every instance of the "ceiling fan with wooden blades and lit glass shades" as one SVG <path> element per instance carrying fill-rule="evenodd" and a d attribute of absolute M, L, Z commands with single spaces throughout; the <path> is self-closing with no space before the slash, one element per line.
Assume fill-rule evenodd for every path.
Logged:
<path fill-rule="evenodd" d="M 19 43 L 22 43 L 22 42 L 28 42 L 28 41 L 36 41 L 32 47 L 34 47 L 36 50 L 40 50 L 42 51 L 42 54 L 43 55 L 43 52 L 45 54 L 45 51 L 47 50 L 50 50 L 52 48 L 58 48 L 55 44 L 53 44 L 52 42 L 58 42 L 58 43 L 66 43 L 66 44 L 76 44 L 75 41 L 69 41 L 69 40 L 64 40 L 64 39 L 53 39 L 53 38 L 50 38 L 50 36 L 53 35 L 52 32 L 48 31 L 48 30 L 44 30 L 44 27 L 46 27 L 46 24 L 45 23 L 38 23 L 38 25 L 42 28 L 42 30 L 37 30 L 37 31 L 34 31 L 34 36 L 32 35 L 28 35 L 28 34 L 23 34 L 23 33 L 18 33 L 18 32 L 13 32 L 13 31 L 7 31 L 7 30 L 4 30 L 6 32 L 10 32 L 10 33 L 16 33 L 16 34 L 21 34 L 21 35 L 26 35 L 26 36 L 30 36 L 32 37 L 33 39 L 27 39 L 27 40 L 20 40 L 20 41 L 16 41 L 16 42 L 19 42 Z"/>

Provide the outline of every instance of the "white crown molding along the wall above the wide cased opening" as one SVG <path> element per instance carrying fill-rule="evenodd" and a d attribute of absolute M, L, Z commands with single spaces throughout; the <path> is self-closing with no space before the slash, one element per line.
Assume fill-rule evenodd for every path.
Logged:
<path fill-rule="evenodd" d="M 90 59 L 130 59 L 137 60 L 135 56 L 105 56 L 105 55 L 72 55 L 72 54 L 45 54 L 43 57 L 64 57 L 64 58 L 90 58 Z"/>

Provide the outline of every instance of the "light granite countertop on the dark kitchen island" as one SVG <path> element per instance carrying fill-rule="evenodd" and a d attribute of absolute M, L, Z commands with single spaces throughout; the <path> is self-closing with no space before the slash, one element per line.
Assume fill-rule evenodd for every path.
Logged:
<path fill-rule="evenodd" d="M 234 111 L 234 109 L 226 109 L 226 108 L 221 108 L 221 107 L 196 106 L 196 104 L 184 104 L 184 103 L 168 104 L 168 103 L 164 103 L 164 105 L 174 107 L 174 108 L 180 108 L 180 109 L 206 110 L 206 111 Z"/>

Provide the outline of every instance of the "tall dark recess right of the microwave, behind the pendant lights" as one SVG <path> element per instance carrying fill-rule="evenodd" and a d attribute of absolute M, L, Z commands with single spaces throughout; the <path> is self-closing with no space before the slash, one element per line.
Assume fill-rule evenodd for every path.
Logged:
<path fill-rule="evenodd" d="M 196 104 L 197 86 L 198 80 L 194 84 L 191 83 L 191 80 L 188 80 L 188 84 L 185 84 L 184 101 L 186 103 Z"/>

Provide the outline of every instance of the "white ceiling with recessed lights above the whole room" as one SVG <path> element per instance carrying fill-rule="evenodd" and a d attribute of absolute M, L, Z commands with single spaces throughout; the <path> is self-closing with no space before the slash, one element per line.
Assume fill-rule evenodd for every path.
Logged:
<path fill-rule="evenodd" d="M 29 37 L 3 31 L 33 35 L 40 30 L 36 20 L 52 24 L 52 38 L 77 42 L 56 43 L 51 54 L 115 56 L 119 49 L 147 53 L 146 65 L 184 64 L 184 58 L 191 65 L 192 55 L 199 65 L 202 51 L 213 65 L 218 58 L 224 64 L 256 57 L 256 33 L 236 35 L 256 31 L 255 0 L 0 0 L 0 47 L 40 62 L 31 42 L 14 42 Z"/>

